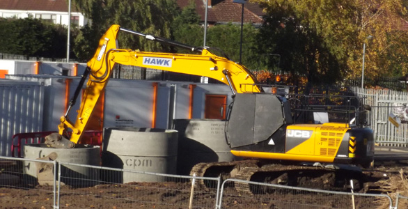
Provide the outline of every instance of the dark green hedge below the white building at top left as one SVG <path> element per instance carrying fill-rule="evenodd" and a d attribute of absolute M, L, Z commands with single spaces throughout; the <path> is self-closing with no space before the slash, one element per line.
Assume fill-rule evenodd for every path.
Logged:
<path fill-rule="evenodd" d="M 36 19 L 0 19 L 0 52 L 62 58 L 66 54 L 66 31 L 62 26 Z"/>

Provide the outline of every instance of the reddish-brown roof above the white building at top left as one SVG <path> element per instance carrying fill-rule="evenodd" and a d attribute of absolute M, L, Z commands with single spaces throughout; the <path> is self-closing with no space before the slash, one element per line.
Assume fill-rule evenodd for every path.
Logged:
<path fill-rule="evenodd" d="M 68 12 L 68 2 L 65 0 L 1 0 L 0 9 Z M 73 5 L 71 10 L 76 12 Z"/>

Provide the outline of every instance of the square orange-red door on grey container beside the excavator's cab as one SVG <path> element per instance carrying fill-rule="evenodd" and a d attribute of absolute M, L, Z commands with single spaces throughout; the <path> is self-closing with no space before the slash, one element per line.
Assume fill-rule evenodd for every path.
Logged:
<path fill-rule="evenodd" d="M 226 95 L 205 95 L 205 114 L 204 118 L 208 119 L 225 119 L 226 118 Z"/>

